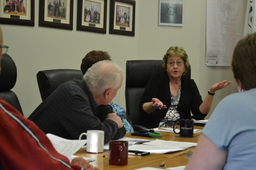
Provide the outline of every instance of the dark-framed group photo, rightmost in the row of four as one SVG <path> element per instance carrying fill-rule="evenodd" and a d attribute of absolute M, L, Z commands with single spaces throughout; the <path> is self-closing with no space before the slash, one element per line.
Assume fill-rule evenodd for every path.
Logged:
<path fill-rule="evenodd" d="M 109 33 L 135 36 L 134 0 L 110 0 Z"/>

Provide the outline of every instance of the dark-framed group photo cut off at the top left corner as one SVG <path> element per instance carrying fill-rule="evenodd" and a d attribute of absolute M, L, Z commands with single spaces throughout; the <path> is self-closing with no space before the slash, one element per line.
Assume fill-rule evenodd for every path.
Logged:
<path fill-rule="evenodd" d="M 9 6 L 6 0 L 0 0 L 0 22 L 1 24 L 35 26 L 35 0 L 17 0 L 18 8 L 15 8 L 14 0 L 11 0 Z M 10 4 L 11 3 L 11 4 Z M 21 3 L 23 7 L 21 7 Z M 11 5 L 14 5 L 14 8 Z M 16 6 L 17 6 L 16 5 Z M 6 8 L 6 9 L 5 9 Z M 22 9 L 20 11 L 19 9 Z M 6 12 L 6 11 L 7 12 Z M 14 10 L 14 11 L 12 11 Z"/>

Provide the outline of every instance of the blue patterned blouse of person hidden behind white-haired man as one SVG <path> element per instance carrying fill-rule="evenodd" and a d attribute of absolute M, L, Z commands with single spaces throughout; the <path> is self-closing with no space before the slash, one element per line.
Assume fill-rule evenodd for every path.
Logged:
<path fill-rule="evenodd" d="M 110 106 L 113 108 L 113 111 L 117 114 L 117 115 L 122 115 L 120 116 L 123 119 L 123 124 L 124 124 L 124 128 L 126 130 L 126 133 L 130 133 L 130 132 L 134 132 L 132 125 L 126 120 L 125 118 L 125 110 L 124 107 L 113 103 L 112 101 L 110 102 Z"/>

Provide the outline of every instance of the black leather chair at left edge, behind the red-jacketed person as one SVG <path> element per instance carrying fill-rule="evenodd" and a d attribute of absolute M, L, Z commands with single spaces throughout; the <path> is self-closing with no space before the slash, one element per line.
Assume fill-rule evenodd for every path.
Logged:
<path fill-rule="evenodd" d="M 1 74 L 0 74 L 0 97 L 15 107 L 22 115 L 22 109 L 20 101 L 17 95 L 11 91 L 16 84 L 17 80 L 17 68 L 12 60 L 12 57 L 8 54 L 3 54 L 1 60 Z"/>

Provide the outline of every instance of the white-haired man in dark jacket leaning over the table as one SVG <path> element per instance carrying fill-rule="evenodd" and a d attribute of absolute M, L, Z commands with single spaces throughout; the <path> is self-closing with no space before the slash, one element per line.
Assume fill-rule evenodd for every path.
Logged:
<path fill-rule="evenodd" d="M 103 130 L 104 144 L 122 138 L 125 135 L 122 119 L 108 105 L 122 82 L 122 70 L 116 63 L 97 62 L 82 80 L 60 85 L 28 119 L 44 133 L 66 139 L 78 139 L 87 130 Z"/>

